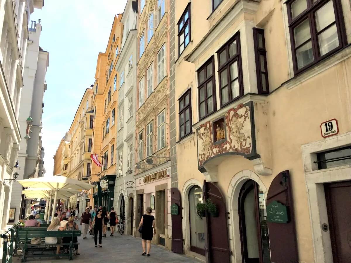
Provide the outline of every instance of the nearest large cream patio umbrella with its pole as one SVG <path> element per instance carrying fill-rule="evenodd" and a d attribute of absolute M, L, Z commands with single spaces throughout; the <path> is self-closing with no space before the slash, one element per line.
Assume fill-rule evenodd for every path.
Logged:
<path fill-rule="evenodd" d="M 44 176 L 37 178 L 30 178 L 18 181 L 24 187 L 31 188 L 46 188 L 51 189 L 54 193 L 54 207 L 57 202 L 58 192 L 60 190 L 75 191 L 74 194 L 79 193 L 82 190 L 90 190 L 94 186 L 82 181 L 78 181 L 72 178 L 68 178 L 62 175 Z M 51 200 L 51 199 L 50 199 Z M 51 217 L 54 218 L 55 211 L 52 210 Z"/>

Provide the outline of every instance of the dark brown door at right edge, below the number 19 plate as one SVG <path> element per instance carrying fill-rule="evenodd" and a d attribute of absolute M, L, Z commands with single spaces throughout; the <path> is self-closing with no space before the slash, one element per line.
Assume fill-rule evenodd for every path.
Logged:
<path fill-rule="evenodd" d="M 351 181 L 324 185 L 334 263 L 351 262 Z"/>

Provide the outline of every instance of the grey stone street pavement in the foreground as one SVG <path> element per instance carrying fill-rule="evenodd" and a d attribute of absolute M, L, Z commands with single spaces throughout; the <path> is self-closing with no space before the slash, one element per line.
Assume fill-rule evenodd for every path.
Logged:
<path fill-rule="evenodd" d="M 107 237 L 102 237 L 102 248 L 95 248 L 94 239 L 92 236 L 87 236 L 83 240 L 78 238 L 80 255 L 74 256 L 73 261 L 68 261 L 67 258 L 53 259 L 53 258 L 27 258 L 27 262 L 72 262 L 72 263 L 96 263 L 96 262 L 120 262 L 120 263 L 134 263 L 134 262 L 200 262 L 196 259 L 186 257 L 165 250 L 158 245 L 151 245 L 150 257 L 141 256 L 143 252 L 141 248 L 141 239 L 127 235 L 120 235 L 115 233 L 113 237 L 107 231 Z"/>

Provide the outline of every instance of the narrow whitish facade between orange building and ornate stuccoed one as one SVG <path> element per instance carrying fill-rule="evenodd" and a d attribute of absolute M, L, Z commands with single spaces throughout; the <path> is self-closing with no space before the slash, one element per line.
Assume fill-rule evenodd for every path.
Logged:
<path fill-rule="evenodd" d="M 137 2 L 128 0 L 121 22 L 124 25 L 122 46 L 115 66 L 119 72 L 118 88 L 118 120 L 116 137 L 116 181 L 114 192 L 114 208 L 118 215 L 125 219 L 124 233 L 134 235 L 133 218 L 135 182 L 134 149 L 135 149 L 135 86 L 137 73 Z M 133 230 L 134 229 L 134 230 Z"/>

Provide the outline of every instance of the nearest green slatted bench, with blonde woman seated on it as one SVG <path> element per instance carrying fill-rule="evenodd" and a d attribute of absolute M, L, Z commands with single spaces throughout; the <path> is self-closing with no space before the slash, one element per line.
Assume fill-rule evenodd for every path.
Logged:
<path fill-rule="evenodd" d="M 51 250 L 49 247 L 57 247 L 57 245 L 67 245 L 69 248 L 68 254 L 60 254 L 62 257 L 68 257 L 69 260 L 73 259 L 73 247 L 74 245 L 78 245 L 79 243 L 73 243 L 73 237 L 79 237 L 81 235 L 80 230 L 73 231 L 46 231 L 46 230 L 19 230 L 18 238 L 19 242 L 23 242 L 22 249 L 22 259 L 21 262 L 26 262 L 27 257 L 52 257 L 57 256 L 56 250 Z M 61 243 L 61 244 L 45 244 L 41 243 L 38 245 L 32 245 L 30 240 L 34 237 L 40 238 L 41 240 L 45 240 L 45 237 L 71 237 L 72 241 L 69 243 Z M 28 254 L 31 252 L 31 254 Z M 40 252 L 40 254 L 36 254 L 35 252 Z M 51 253 L 47 253 L 51 252 Z M 52 253 L 53 252 L 53 253 Z"/>

